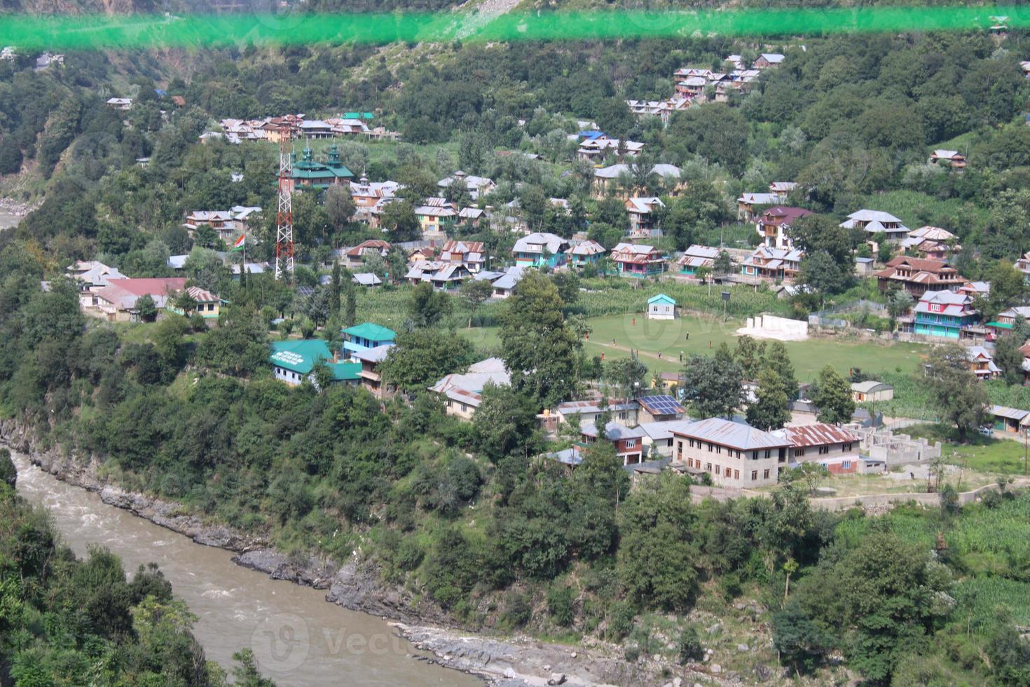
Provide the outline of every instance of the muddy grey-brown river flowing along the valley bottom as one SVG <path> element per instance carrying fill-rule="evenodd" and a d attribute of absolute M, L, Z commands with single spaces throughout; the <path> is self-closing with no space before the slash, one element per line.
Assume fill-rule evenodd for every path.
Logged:
<path fill-rule="evenodd" d="M 240 568 L 229 551 L 197 544 L 96 493 L 66 484 L 13 454 L 18 491 L 49 510 L 79 556 L 101 544 L 126 571 L 157 562 L 175 595 L 198 616 L 194 634 L 207 657 L 232 665 L 250 647 L 278 685 L 457 685 L 482 682 L 413 658 L 419 652 L 380 618 L 325 602 L 324 592 Z"/>

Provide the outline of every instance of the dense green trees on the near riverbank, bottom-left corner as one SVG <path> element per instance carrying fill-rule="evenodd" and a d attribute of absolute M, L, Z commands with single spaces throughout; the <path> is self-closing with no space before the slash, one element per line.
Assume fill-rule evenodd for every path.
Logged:
<path fill-rule="evenodd" d="M 106 549 L 76 559 L 44 511 L 4 488 L 0 528 L 0 657 L 15 683 L 85 684 L 104 657 L 111 684 L 225 684 L 193 637 L 196 617 L 157 565 L 140 565 L 129 582 Z"/>

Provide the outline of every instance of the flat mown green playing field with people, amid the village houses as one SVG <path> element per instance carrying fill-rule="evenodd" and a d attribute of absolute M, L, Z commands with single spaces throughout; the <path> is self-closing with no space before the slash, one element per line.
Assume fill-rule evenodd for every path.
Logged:
<path fill-rule="evenodd" d="M 691 354 L 710 355 L 719 344 L 730 347 L 736 343 L 740 320 L 685 315 L 674 320 L 651 320 L 641 315 L 609 315 L 587 320 L 593 333 L 585 344 L 588 355 L 605 354 L 605 359 L 625 357 L 628 349 L 640 351 L 639 356 L 652 371 L 679 370 L 680 352 L 684 358 Z M 636 322 L 636 323 L 634 323 Z M 497 345 L 496 328 L 462 330 L 475 345 L 492 349 Z M 688 338 L 689 335 L 689 338 Z M 612 345 L 612 341 L 615 345 Z M 916 344 L 880 344 L 869 341 L 853 342 L 840 339 L 811 339 L 787 342 L 787 350 L 797 370 L 798 379 L 813 379 L 824 366 L 832 365 L 842 374 L 853 367 L 870 373 L 895 371 L 912 372 L 925 355 L 927 348 Z M 658 352 L 661 352 L 661 358 Z"/>

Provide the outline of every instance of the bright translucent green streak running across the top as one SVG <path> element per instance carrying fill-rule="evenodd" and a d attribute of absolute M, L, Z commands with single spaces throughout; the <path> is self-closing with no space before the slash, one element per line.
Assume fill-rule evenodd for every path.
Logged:
<path fill-rule="evenodd" d="M 0 45 L 90 49 L 253 43 L 388 43 L 619 38 L 803 36 L 829 33 L 987 30 L 995 16 L 1030 27 L 1030 6 L 857 7 L 735 11 L 576 11 L 165 15 L 0 15 Z"/>

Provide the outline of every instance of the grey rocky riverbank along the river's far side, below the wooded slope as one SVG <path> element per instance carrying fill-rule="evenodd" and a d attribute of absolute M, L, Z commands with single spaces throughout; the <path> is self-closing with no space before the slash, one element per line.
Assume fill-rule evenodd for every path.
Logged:
<path fill-rule="evenodd" d="M 205 521 L 179 504 L 108 484 L 98 477 L 100 463 L 96 458 L 62 455 L 58 449 L 40 445 L 34 433 L 16 421 L 0 420 L 0 442 L 28 455 L 33 465 L 58 479 L 98 492 L 105 504 L 128 510 L 198 544 L 235 552 L 233 561 L 239 565 L 273 579 L 324 589 L 328 602 L 396 620 L 393 626 L 400 634 L 435 656 L 421 659 L 479 676 L 489 684 L 674 684 L 667 677 L 660 677 L 667 666 L 626 662 L 610 646 L 574 648 L 528 638 L 492 639 L 454 629 L 453 619 L 439 607 L 415 598 L 402 587 L 383 586 L 378 570 L 370 561 L 355 557 L 338 564 L 315 556 L 287 556 L 261 538 Z"/>

